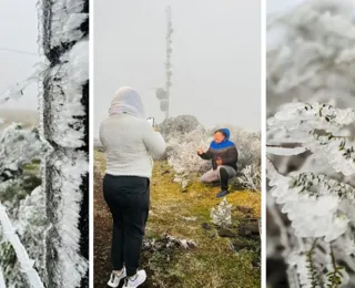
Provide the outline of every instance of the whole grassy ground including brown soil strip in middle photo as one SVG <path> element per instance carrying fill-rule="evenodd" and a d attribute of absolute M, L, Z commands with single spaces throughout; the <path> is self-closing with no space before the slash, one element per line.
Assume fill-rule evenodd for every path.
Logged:
<path fill-rule="evenodd" d="M 105 156 L 95 152 L 98 171 L 94 179 L 94 287 L 105 287 L 110 275 L 111 215 L 102 197 L 101 178 Z M 257 245 L 237 253 L 230 248 L 230 238 L 219 237 L 211 224 L 210 210 L 221 199 L 215 198 L 217 187 L 206 187 L 197 182 L 182 193 L 172 182 L 173 172 L 165 162 L 155 163 L 151 187 L 151 212 L 146 238 L 160 239 L 169 234 L 192 239 L 196 248 L 165 249 L 142 254 L 142 267 L 149 280 L 143 287 L 260 287 L 261 270 L 255 265 L 260 257 Z M 233 205 L 233 224 L 239 226 L 247 217 L 258 218 L 261 195 L 246 191 L 227 196 Z M 243 209 L 237 209 L 243 206 Z M 245 215 L 245 208 L 250 210 Z M 244 212 L 243 212 L 244 210 Z M 210 228 L 203 228 L 210 227 Z M 234 240 L 250 241 L 236 236 Z M 253 241 L 255 244 L 255 241 Z M 260 247 L 260 246 L 258 246 Z M 257 261 L 257 260 L 256 260 Z"/>

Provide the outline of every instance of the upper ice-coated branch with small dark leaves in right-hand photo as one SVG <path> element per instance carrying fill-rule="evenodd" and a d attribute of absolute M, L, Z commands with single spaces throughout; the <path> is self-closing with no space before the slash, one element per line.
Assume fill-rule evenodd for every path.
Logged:
<path fill-rule="evenodd" d="M 272 144 L 300 143 L 317 158 L 325 160 L 336 172 L 348 176 L 355 173 L 355 143 L 343 135 L 354 123 L 355 110 L 339 110 L 328 104 L 293 103 L 268 119 L 267 134 L 272 135 Z M 284 150 L 268 148 L 267 152 L 285 155 Z M 304 151 L 298 148 L 297 152 Z"/>

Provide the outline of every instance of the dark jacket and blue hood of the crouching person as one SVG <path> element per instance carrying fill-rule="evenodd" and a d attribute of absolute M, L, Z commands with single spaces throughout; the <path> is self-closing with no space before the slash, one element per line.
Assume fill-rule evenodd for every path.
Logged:
<path fill-rule="evenodd" d="M 212 160 L 213 169 L 217 168 L 216 160 L 222 160 L 222 165 L 231 166 L 236 171 L 236 162 L 237 162 L 237 150 L 235 144 L 230 141 L 230 130 L 222 128 L 226 134 L 226 137 L 221 143 L 215 143 L 214 141 L 211 143 L 207 152 L 203 154 L 199 154 L 199 156 L 203 160 Z"/>

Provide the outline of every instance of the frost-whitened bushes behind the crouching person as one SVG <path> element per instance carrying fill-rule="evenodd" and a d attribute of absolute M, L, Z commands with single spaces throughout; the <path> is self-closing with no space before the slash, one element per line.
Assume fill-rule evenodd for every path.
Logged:
<path fill-rule="evenodd" d="M 239 151 L 239 175 L 231 183 L 236 188 L 258 192 L 261 187 L 261 137 L 260 133 L 246 132 L 226 125 Z M 168 142 L 165 158 L 175 171 L 175 182 L 185 188 L 202 173 L 212 167 L 209 161 L 202 161 L 197 151 L 209 148 L 215 128 L 205 128 L 191 115 L 181 115 L 165 120 L 159 125 Z"/>

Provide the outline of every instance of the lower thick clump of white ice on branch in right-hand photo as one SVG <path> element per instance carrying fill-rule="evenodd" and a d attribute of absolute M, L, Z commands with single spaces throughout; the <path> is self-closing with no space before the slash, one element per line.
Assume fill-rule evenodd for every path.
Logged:
<path fill-rule="evenodd" d="M 283 176 L 267 161 L 271 195 L 288 215 L 298 237 L 335 240 L 346 232 L 348 218 L 339 213 L 343 199 L 355 205 L 355 188 L 325 175 L 294 173 Z"/>

